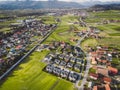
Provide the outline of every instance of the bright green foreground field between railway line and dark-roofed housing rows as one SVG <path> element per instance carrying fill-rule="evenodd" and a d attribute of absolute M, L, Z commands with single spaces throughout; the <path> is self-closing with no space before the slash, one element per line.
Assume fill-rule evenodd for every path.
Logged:
<path fill-rule="evenodd" d="M 34 52 L 0 85 L 0 90 L 73 90 L 73 84 L 42 71 L 49 51 Z"/>

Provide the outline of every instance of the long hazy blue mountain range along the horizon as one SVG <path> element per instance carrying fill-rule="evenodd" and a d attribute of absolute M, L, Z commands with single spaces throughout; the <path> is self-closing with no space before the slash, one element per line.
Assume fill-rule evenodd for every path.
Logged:
<path fill-rule="evenodd" d="M 1 2 L 1 10 L 14 10 L 14 9 L 47 9 L 47 8 L 82 8 L 83 5 L 75 2 L 62 2 L 62 1 L 10 1 Z"/>

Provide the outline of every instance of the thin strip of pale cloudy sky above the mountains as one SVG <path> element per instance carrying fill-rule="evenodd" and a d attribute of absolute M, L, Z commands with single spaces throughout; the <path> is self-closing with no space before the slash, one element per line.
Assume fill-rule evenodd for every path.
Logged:
<path fill-rule="evenodd" d="M 13 0 L 0 0 L 0 1 L 13 1 Z M 48 1 L 48 0 L 37 0 L 37 1 Z M 120 1 L 120 0 L 58 0 L 58 1 L 67 1 L 67 2 L 85 2 L 85 1 Z"/>

